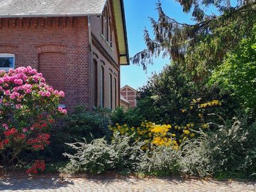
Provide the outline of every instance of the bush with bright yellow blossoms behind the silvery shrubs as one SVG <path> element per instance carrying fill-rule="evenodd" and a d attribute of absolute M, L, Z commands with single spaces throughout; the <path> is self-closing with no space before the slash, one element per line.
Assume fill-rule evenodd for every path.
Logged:
<path fill-rule="evenodd" d="M 205 122 L 207 114 L 205 108 L 221 105 L 219 100 L 211 100 L 205 103 L 200 101 L 201 99 L 193 99 L 188 108 L 181 109 L 181 113 L 184 113 L 184 115 L 196 116 L 194 118 L 195 122 L 189 122 L 184 125 L 158 125 L 145 121 L 139 127 L 115 124 L 114 126 L 109 126 L 109 129 L 113 132 L 120 132 L 122 135 L 133 135 L 135 141 L 144 141 L 146 145 L 141 148 L 143 150 L 150 148 L 151 145 L 156 147 L 172 146 L 173 149 L 177 150 L 184 140 L 194 138 L 200 129 L 209 129 L 209 124 Z"/>

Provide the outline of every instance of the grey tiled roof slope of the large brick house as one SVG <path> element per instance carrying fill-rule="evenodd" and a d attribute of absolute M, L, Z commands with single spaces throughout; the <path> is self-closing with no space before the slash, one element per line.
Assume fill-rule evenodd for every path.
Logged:
<path fill-rule="evenodd" d="M 106 0 L 0 0 L 1 17 L 101 15 Z"/>

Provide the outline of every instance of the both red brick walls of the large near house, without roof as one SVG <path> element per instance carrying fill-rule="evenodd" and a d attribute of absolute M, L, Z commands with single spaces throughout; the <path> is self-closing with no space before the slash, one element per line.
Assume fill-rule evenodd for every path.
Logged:
<path fill-rule="evenodd" d="M 105 73 L 104 106 L 109 107 L 109 74 L 113 77 L 113 88 L 116 79 L 117 97 L 113 104 L 118 106 L 120 63 L 111 0 L 107 6 L 112 20 L 112 47 L 101 34 L 101 20 L 97 16 L 91 17 L 92 46 L 88 17 L 0 19 L 0 53 L 15 54 L 15 68 L 30 65 L 42 72 L 47 83 L 65 92 L 65 100 L 61 103 L 66 104 L 68 110 L 77 104 L 85 104 L 92 110 L 95 98 L 99 106 L 102 66 Z M 97 60 L 97 69 L 93 59 Z"/>

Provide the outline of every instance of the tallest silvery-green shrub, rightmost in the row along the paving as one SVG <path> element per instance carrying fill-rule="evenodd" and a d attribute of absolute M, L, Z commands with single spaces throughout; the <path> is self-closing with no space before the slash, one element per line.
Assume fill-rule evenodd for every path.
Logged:
<path fill-rule="evenodd" d="M 255 125 L 234 120 L 232 125 L 216 126 L 217 131 L 202 132 L 200 138 L 184 143 L 180 162 L 182 172 L 200 177 L 253 177 L 256 172 Z"/>

